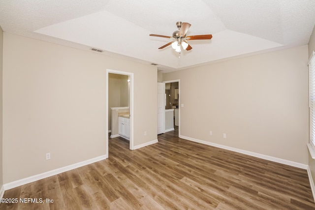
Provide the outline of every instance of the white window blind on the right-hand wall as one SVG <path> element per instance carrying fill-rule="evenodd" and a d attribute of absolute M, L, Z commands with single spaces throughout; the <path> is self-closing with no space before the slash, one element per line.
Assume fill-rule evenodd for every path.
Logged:
<path fill-rule="evenodd" d="M 311 143 L 315 146 L 315 55 L 309 62 L 310 69 L 310 138 Z"/>

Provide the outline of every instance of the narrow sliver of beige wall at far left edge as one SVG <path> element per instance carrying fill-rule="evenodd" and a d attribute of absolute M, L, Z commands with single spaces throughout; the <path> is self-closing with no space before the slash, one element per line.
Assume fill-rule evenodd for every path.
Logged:
<path fill-rule="evenodd" d="M 2 54 L 3 54 L 3 31 L 0 27 L 0 188 L 3 184 L 2 177 Z"/>

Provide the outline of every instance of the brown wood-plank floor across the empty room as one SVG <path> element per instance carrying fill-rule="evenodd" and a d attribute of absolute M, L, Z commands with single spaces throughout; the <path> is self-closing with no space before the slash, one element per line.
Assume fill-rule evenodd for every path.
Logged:
<path fill-rule="evenodd" d="M 109 158 L 5 191 L 0 210 L 314 210 L 307 171 L 178 138 L 128 150 L 109 139 Z"/>

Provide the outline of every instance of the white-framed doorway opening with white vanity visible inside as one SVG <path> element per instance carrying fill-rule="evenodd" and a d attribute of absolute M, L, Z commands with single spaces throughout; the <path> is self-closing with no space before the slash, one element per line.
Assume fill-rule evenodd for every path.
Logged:
<path fill-rule="evenodd" d="M 118 107 L 117 107 L 118 106 Z M 114 115 L 112 116 L 112 113 Z M 133 73 L 106 69 L 106 154 L 108 155 L 108 133 L 120 136 L 118 116 L 124 117 L 124 129 L 129 140 L 129 150 L 133 150 Z M 113 120 L 115 119 L 115 120 Z M 115 121 L 112 124 L 112 121 Z M 113 133 L 113 131 L 117 131 Z"/>

